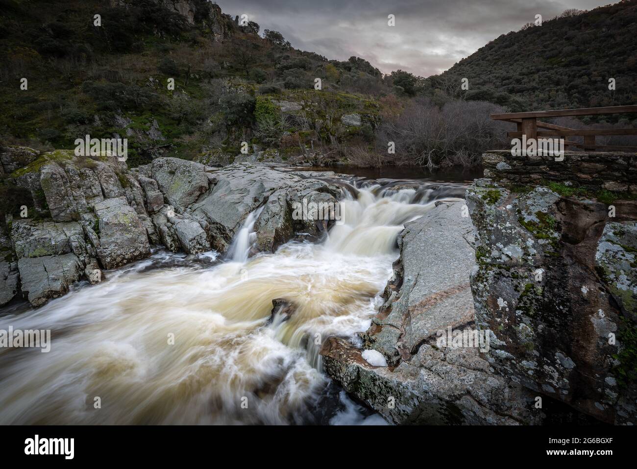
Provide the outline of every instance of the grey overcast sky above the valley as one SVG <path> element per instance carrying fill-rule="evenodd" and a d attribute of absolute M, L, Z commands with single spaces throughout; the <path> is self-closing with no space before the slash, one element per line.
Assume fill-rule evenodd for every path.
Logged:
<path fill-rule="evenodd" d="M 246 14 L 280 31 L 292 46 L 327 59 L 357 55 L 383 73 L 430 76 L 450 68 L 536 14 L 590 10 L 612 0 L 217 0 L 224 13 Z M 387 25 L 387 15 L 396 25 Z"/>

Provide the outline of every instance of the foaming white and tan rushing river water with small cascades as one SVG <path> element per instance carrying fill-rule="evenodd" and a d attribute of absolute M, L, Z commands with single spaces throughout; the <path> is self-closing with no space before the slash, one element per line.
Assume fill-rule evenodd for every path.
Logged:
<path fill-rule="evenodd" d="M 311 421 L 328 382 L 317 343 L 368 328 L 396 235 L 433 208 L 415 194 L 360 189 L 324 242 L 248 259 L 253 213 L 229 261 L 159 252 L 0 317 L 0 329 L 52 331 L 49 353 L 0 349 L 0 424 Z M 289 319 L 271 317 L 275 298 L 294 305 Z M 332 423 L 378 422 L 343 396 Z"/>

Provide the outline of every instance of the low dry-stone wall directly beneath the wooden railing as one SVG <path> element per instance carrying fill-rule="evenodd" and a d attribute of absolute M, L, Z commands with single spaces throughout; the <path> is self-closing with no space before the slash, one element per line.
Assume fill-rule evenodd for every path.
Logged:
<path fill-rule="evenodd" d="M 513 156 L 510 150 L 482 155 L 485 177 L 504 183 L 536 185 L 543 180 L 595 191 L 637 194 L 637 154 L 564 152 L 563 161 L 547 155 Z"/>

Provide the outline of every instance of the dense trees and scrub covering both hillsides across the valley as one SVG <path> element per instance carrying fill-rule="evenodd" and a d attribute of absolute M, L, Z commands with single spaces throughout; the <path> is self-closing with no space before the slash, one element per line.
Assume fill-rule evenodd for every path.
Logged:
<path fill-rule="evenodd" d="M 163 0 L 0 0 L 0 139 L 44 150 L 126 137 L 129 166 L 158 155 L 228 162 L 243 141 L 284 160 L 441 166 L 503 145 L 492 112 L 634 102 L 635 1 L 501 36 L 429 78 L 328 60 L 188 3 L 190 21 Z M 606 75 L 616 92 L 604 91 Z"/>

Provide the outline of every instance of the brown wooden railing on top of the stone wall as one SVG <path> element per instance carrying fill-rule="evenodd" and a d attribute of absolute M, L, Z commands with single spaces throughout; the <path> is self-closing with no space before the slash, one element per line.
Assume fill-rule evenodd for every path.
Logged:
<path fill-rule="evenodd" d="M 565 117 L 576 115 L 621 114 L 637 112 L 637 106 L 608 106 L 605 108 L 562 109 L 557 111 L 512 112 L 507 114 L 491 114 L 491 119 L 505 120 L 517 124 L 517 131 L 508 132 L 512 138 L 564 138 L 564 145 L 582 148 L 583 150 L 606 150 L 617 152 L 637 152 L 637 147 L 619 147 L 617 145 L 596 145 L 596 136 L 637 135 L 637 129 L 571 129 L 555 126 L 538 119 L 547 117 Z M 546 129 L 546 130 L 538 130 Z M 583 143 L 566 140 L 565 137 L 582 136 Z"/>

